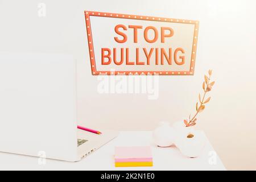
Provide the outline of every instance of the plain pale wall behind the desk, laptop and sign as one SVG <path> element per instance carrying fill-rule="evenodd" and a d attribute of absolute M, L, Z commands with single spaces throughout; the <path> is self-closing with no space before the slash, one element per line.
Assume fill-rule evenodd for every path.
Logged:
<path fill-rule="evenodd" d="M 47 16 L 38 17 L 38 3 Z M 195 76 L 164 76 L 159 99 L 98 94 L 90 74 L 84 10 L 200 20 Z M 152 130 L 195 110 L 203 75 L 213 68 L 212 100 L 198 125 L 228 169 L 256 169 L 256 2 L 0 0 L 0 51 L 72 53 L 78 61 L 79 118 L 87 126 Z"/>

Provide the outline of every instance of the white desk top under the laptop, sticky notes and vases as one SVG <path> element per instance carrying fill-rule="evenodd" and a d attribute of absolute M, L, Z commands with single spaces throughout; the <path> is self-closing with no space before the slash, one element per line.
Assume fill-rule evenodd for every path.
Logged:
<path fill-rule="evenodd" d="M 154 167 L 114 167 L 115 146 L 151 146 Z M 47 159 L 39 165 L 38 158 L 0 152 L 1 170 L 226 170 L 218 155 L 216 163 L 210 164 L 209 152 L 214 151 L 209 140 L 203 154 L 198 158 L 183 156 L 176 147 L 159 148 L 152 143 L 150 131 L 123 131 L 93 154 L 77 163 Z"/>

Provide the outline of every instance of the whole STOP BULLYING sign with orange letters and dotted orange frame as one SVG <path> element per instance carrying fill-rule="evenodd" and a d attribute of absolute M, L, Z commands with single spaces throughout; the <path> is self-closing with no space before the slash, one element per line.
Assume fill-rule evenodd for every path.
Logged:
<path fill-rule="evenodd" d="M 193 75 L 199 22 L 92 11 L 85 19 L 93 75 Z"/>

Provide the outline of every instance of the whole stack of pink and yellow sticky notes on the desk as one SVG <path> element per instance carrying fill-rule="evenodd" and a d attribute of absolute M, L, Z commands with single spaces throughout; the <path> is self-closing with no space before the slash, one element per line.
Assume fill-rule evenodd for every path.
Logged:
<path fill-rule="evenodd" d="M 150 166 L 153 166 L 150 147 L 115 147 L 115 167 Z"/>

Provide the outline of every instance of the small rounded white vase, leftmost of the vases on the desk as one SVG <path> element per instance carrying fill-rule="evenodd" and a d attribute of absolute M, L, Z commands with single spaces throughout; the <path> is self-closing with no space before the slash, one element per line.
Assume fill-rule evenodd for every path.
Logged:
<path fill-rule="evenodd" d="M 154 143 L 159 147 L 169 147 L 174 144 L 175 130 L 168 122 L 160 122 L 159 126 L 153 131 Z"/>

